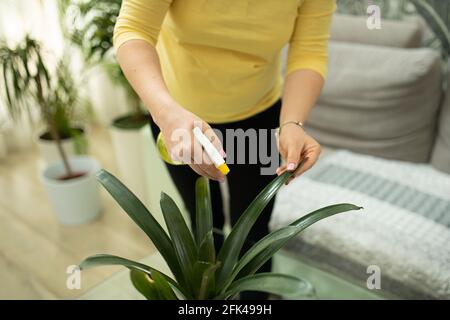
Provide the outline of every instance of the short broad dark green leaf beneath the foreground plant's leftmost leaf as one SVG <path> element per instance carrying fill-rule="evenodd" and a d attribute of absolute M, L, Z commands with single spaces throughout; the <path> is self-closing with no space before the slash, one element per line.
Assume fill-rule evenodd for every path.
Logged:
<path fill-rule="evenodd" d="M 138 270 L 130 271 L 134 287 L 149 300 L 178 300 L 167 280 L 159 272 L 152 275 Z"/>

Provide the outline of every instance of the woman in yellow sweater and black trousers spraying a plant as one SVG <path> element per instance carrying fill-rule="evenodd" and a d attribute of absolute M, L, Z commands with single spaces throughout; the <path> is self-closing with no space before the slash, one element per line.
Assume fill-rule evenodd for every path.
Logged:
<path fill-rule="evenodd" d="M 260 132 L 280 127 L 279 152 L 285 164 L 277 168 L 277 174 L 295 171 L 306 159 L 295 173 L 298 176 L 316 162 L 320 145 L 303 130 L 302 123 L 324 83 L 334 10 L 335 0 L 123 1 L 114 43 L 122 70 L 150 111 L 153 133 L 156 136 L 161 131 L 169 151 L 179 147 L 179 141 L 172 139 L 177 130 L 190 135 L 182 146 L 185 154 L 177 153 L 190 168 L 169 165 L 168 169 L 192 218 L 196 177 L 224 180 L 220 171 L 205 161 L 201 148 L 193 147 L 194 126 L 200 126 L 224 156 L 226 129 Z M 289 52 L 283 86 L 280 51 L 286 44 Z M 209 124 L 220 130 L 223 143 L 208 130 Z M 267 136 L 259 139 L 259 146 L 271 141 Z M 236 150 L 242 151 L 226 151 L 234 154 Z M 247 146 L 245 151 L 249 150 Z M 187 154 L 188 159 L 201 161 L 186 161 Z M 257 163 L 247 159 L 229 165 L 232 223 L 273 179 L 261 174 L 262 165 L 259 158 Z M 211 183 L 211 193 L 214 223 L 221 229 L 217 182 Z M 249 239 L 256 241 L 268 232 L 272 207 L 273 201 Z M 268 269 L 269 264 L 262 268 Z"/>

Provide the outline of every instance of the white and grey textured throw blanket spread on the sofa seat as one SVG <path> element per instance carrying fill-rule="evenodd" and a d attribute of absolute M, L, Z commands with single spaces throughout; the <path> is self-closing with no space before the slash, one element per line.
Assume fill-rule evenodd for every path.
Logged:
<path fill-rule="evenodd" d="M 428 165 L 338 151 L 280 190 L 271 228 L 330 204 L 364 207 L 320 221 L 288 250 L 400 298 L 450 299 L 450 176 Z"/>

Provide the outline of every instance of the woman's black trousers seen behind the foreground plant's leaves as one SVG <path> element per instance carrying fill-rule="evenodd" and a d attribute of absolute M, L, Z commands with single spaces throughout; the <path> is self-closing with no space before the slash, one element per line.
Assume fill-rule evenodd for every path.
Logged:
<path fill-rule="evenodd" d="M 212 125 L 213 129 L 220 130 L 223 137 L 223 146 L 225 152 L 227 153 L 227 164 L 230 168 L 230 173 L 227 175 L 228 183 L 229 183 L 229 191 L 230 191 L 230 219 L 231 224 L 234 224 L 239 216 L 244 212 L 244 210 L 248 207 L 248 205 L 252 202 L 252 200 L 258 195 L 258 193 L 270 182 L 274 179 L 274 170 L 272 174 L 261 174 L 262 167 L 268 167 L 267 163 L 262 163 L 260 157 L 253 157 L 251 161 L 251 156 L 249 151 L 252 150 L 254 153 L 255 141 L 251 141 L 250 139 L 246 140 L 245 143 L 245 155 L 246 161 L 242 163 L 242 161 L 238 161 L 239 156 L 242 156 L 242 148 L 237 149 L 236 143 L 234 143 L 234 150 L 227 149 L 227 129 L 242 129 L 247 131 L 251 129 L 251 131 L 256 130 L 256 133 L 259 132 L 260 129 L 266 129 L 267 135 L 261 136 L 257 135 L 258 139 L 258 149 L 261 144 L 266 143 L 266 146 L 269 146 L 265 153 L 269 152 L 275 153 L 276 158 L 278 157 L 278 150 L 270 150 L 270 146 L 273 145 L 273 130 L 278 127 L 279 124 L 279 115 L 280 115 L 281 102 L 278 101 L 269 109 L 256 114 L 255 116 L 241 120 L 236 122 L 230 122 L 226 124 L 215 124 Z M 156 139 L 159 128 L 152 123 L 152 132 L 153 137 Z M 248 132 L 248 131 L 247 131 Z M 272 134 L 272 136 L 271 136 Z M 265 139 L 266 141 L 259 141 L 261 139 Z M 272 139 L 272 141 L 270 140 Z M 258 150 L 259 151 L 259 150 Z M 230 155 L 234 155 L 234 163 L 229 163 Z M 242 158 L 241 158 L 242 160 Z M 267 159 L 266 159 L 267 160 Z M 277 160 L 278 161 L 278 160 Z M 238 163 L 239 162 L 239 163 Z M 266 162 L 266 161 L 264 161 Z M 181 197 L 184 201 L 186 209 L 189 211 L 191 216 L 191 222 L 193 227 L 195 227 L 195 181 L 198 178 L 197 173 L 195 173 L 189 166 L 175 166 L 166 164 L 169 170 L 170 176 L 175 183 Z M 276 169 L 276 168 L 275 168 Z M 212 201 L 212 209 L 213 209 L 213 221 L 214 227 L 222 230 L 224 225 L 224 214 L 223 214 L 223 204 L 222 197 L 220 193 L 219 182 L 210 181 L 211 188 L 211 201 Z M 244 245 L 243 252 L 245 252 L 251 245 L 264 237 L 268 233 L 268 223 L 270 219 L 270 215 L 273 209 L 274 200 L 267 205 L 264 211 L 261 213 L 259 219 L 253 226 L 250 231 L 248 241 Z M 215 245 L 216 250 L 221 247 L 223 239 L 221 236 L 215 237 Z M 266 263 L 259 272 L 269 272 L 271 270 L 271 262 Z M 243 293 L 241 294 L 241 298 L 243 299 L 264 299 L 267 297 L 265 294 L 259 293 Z"/>

